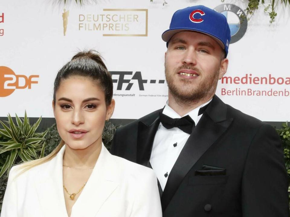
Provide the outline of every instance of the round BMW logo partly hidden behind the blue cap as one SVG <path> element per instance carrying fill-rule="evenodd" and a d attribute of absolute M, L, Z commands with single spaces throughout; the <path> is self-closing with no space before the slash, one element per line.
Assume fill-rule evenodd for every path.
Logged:
<path fill-rule="evenodd" d="M 219 5 L 214 10 L 227 18 L 230 27 L 230 44 L 240 40 L 246 33 L 248 26 L 244 10 L 233 4 Z"/>

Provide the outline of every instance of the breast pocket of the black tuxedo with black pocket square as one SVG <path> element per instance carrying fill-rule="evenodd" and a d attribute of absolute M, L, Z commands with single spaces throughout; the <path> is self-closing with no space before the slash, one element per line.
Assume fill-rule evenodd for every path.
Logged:
<path fill-rule="evenodd" d="M 221 185 L 226 184 L 228 175 L 190 176 L 188 185 Z"/>

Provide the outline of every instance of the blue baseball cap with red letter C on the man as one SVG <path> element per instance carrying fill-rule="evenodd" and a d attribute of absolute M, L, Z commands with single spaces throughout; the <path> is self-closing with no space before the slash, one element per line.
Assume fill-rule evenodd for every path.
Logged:
<path fill-rule="evenodd" d="M 223 14 L 203 5 L 176 11 L 172 16 L 169 29 L 162 34 L 162 39 L 167 42 L 167 47 L 171 37 L 181 31 L 195 31 L 210 36 L 224 49 L 227 56 L 230 44 L 230 27 Z"/>

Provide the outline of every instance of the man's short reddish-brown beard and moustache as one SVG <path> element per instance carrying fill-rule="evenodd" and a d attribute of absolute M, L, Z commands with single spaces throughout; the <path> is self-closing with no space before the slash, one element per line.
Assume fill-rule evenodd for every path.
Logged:
<path fill-rule="evenodd" d="M 182 65 L 181 67 L 176 68 L 174 74 L 177 74 L 181 69 L 190 69 L 196 71 L 199 75 L 202 74 L 198 68 L 188 65 Z M 165 77 L 169 92 L 178 104 L 191 105 L 192 103 L 198 103 L 201 100 L 206 99 L 215 92 L 218 84 L 219 66 L 215 70 L 215 73 L 211 74 L 206 80 L 203 80 L 202 83 L 195 86 L 191 85 L 192 80 L 187 79 L 182 79 L 182 84 L 177 86 L 174 84 L 174 74 L 169 75 L 165 64 Z"/>

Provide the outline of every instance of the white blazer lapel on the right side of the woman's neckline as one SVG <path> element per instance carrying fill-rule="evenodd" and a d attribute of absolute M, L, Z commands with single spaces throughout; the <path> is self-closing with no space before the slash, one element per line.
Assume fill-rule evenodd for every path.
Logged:
<path fill-rule="evenodd" d="M 119 171 L 116 165 L 118 164 L 114 162 L 114 158 L 102 145 L 92 174 L 72 207 L 71 217 L 93 217 L 98 214 L 107 198 L 119 185 Z"/>

